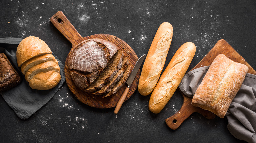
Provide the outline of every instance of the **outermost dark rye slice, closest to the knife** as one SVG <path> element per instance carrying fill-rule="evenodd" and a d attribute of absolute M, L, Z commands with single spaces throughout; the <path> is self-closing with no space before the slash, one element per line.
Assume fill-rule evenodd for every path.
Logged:
<path fill-rule="evenodd" d="M 130 69 L 131 69 L 131 65 L 128 65 L 127 68 L 125 69 L 125 71 L 123 72 L 122 78 L 117 82 L 117 84 L 112 88 L 111 91 L 106 92 L 104 95 L 102 95 L 102 97 L 107 97 L 107 96 L 117 93 L 117 91 L 124 85 L 124 83 L 128 79 Z"/>

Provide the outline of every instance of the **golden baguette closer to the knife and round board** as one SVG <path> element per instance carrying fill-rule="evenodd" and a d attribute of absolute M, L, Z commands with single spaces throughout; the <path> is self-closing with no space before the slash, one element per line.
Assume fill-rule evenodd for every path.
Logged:
<path fill-rule="evenodd" d="M 141 71 L 138 85 L 141 95 L 148 95 L 155 88 L 171 45 L 172 34 L 170 23 L 164 22 L 159 26 Z"/>

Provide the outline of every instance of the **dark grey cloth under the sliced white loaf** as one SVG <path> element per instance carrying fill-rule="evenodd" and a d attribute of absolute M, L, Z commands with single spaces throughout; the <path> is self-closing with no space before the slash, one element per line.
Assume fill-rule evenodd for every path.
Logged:
<path fill-rule="evenodd" d="M 38 109 L 44 106 L 62 86 L 65 81 L 64 65 L 55 56 L 59 62 L 61 80 L 56 87 L 50 90 L 35 90 L 29 87 L 21 69 L 16 60 L 16 50 L 21 38 L 0 38 L 0 53 L 5 53 L 14 69 L 19 73 L 22 82 L 7 91 L 0 92 L 7 104 L 15 111 L 21 119 L 28 119 Z"/>

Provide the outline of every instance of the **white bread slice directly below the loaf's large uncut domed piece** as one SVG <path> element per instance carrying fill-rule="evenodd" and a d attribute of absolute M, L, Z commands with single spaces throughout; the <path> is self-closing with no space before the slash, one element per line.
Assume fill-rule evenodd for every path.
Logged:
<path fill-rule="evenodd" d="M 55 59 L 55 57 L 52 54 L 45 54 L 45 55 L 33 57 L 33 58 L 27 60 L 26 62 L 24 62 L 22 64 L 21 71 L 24 75 L 26 75 L 26 72 L 31 67 L 33 67 L 37 64 L 41 64 L 46 61 L 53 61 L 53 62 L 57 62 L 56 64 L 59 64 L 58 61 Z"/>

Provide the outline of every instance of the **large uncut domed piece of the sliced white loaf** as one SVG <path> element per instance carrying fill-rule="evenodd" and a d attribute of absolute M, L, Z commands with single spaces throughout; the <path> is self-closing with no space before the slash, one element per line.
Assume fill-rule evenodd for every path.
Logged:
<path fill-rule="evenodd" d="M 18 66 L 21 67 L 25 61 L 43 54 L 52 54 L 52 51 L 47 44 L 38 37 L 26 37 L 17 47 L 16 56 Z"/>

